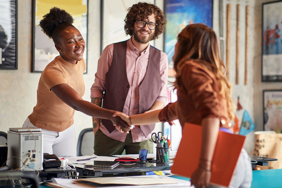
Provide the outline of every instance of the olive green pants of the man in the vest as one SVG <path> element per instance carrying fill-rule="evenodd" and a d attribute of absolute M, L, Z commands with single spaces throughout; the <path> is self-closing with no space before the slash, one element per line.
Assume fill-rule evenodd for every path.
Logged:
<path fill-rule="evenodd" d="M 94 154 L 98 156 L 121 155 L 125 149 L 125 154 L 139 154 L 140 149 L 147 149 L 148 153 L 153 153 L 153 141 L 151 139 L 142 142 L 132 142 L 131 131 L 127 134 L 125 141 L 114 140 L 106 136 L 100 129 L 94 136 Z M 125 173 L 125 176 L 146 175 L 146 172 Z"/>

